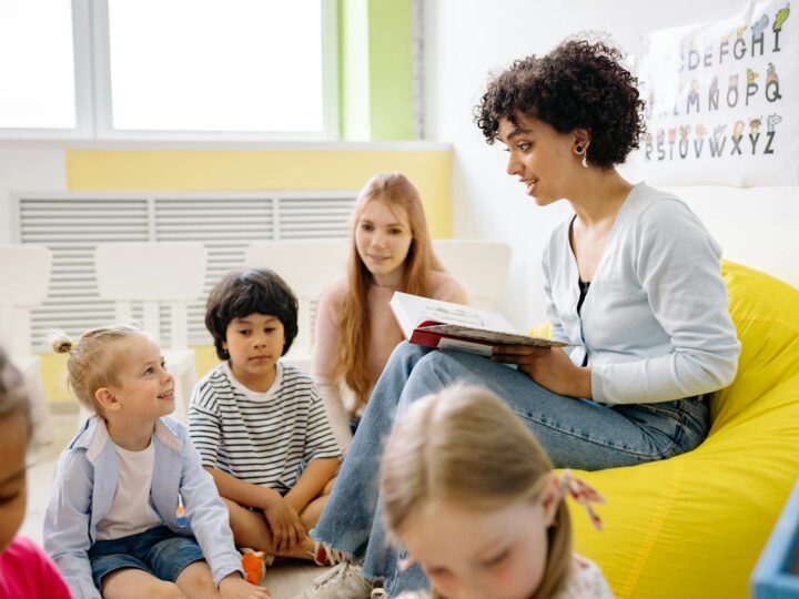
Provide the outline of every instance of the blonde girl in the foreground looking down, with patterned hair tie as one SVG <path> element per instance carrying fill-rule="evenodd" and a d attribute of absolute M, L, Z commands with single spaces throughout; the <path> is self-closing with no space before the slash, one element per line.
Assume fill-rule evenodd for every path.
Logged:
<path fill-rule="evenodd" d="M 408 551 L 404 566 L 424 569 L 433 599 L 613 597 L 599 568 L 572 552 L 565 496 L 575 489 L 598 525 L 588 501 L 601 497 L 553 471 L 534 435 L 482 387 L 415 402 L 381 464 L 390 535 Z"/>

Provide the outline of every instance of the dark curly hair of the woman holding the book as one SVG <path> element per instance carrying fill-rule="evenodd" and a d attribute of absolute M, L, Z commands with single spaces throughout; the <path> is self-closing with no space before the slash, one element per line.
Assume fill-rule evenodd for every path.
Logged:
<path fill-rule="evenodd" d="M 610 169 L 638 148 L 646 130 L 638 80 L 619 64 L 621 52 L 603 41 L 573 39 L 544 57 L 529 55 L 488 83 L 474 120 L 486 141 L 497 140 L 499 120 L 534 116 L 558 133 L 590 133 L 586 160 Z"/>

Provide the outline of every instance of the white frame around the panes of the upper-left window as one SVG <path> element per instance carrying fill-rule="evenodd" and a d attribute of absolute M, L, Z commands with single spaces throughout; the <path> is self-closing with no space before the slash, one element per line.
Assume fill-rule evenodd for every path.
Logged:
<path fill-rule="evenodd" d="M 108 0 L 72 0 L 74 44 L 74 129 L 0 128 L 0 140 L 64 141 L 178 141 L 178 142 L 275 142 L 337 141 L 338 120 L 338 14 L 336 0 L 322 4 L 321 132 L 246 131 L 129 131 L 113 128 Z"/>

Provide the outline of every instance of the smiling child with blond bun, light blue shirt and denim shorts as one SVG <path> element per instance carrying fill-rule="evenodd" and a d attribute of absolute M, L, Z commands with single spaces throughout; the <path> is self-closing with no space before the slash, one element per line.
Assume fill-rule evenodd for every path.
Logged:
<path fill-rule="evenodd" d="M 158 345 L 115 325 L 53 347 L 70 354 L 70 388 L 95 413 L 58 460 L 44 519 L 44 547 L 74 597 L 269 599 L 242 578 L 213 479 L 164 418 L 174 379 Z"/>

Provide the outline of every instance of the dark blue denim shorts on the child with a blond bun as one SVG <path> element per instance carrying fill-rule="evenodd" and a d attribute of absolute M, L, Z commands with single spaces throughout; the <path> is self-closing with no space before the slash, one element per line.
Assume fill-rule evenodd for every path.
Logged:
<path fill-rule="evenodd" d="M 156 526 L 144 532 L 100 540 L 89 549 L 92 578 L 102 588 L 105 575 L 122 568 L 136 568 L 155 578 L 174 582 L 183 568 L 205 559 L 194 537 L 184 537 L 166 526 Z"/>

